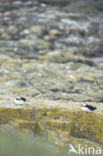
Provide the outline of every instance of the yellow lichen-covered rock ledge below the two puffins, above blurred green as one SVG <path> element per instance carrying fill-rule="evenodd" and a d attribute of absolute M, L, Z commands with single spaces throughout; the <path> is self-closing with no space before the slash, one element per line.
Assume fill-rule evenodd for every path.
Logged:
<path fill-rule="evenodd" d="M 90 104 L 97 106 L 96 103 Z M 101 105 L 98 103 L 97 108 Z M 101 147 L 102 111 L 103 108 L 93 114 L 83 113 L 77 102 L 31 98 L 30 104 L 25 106 L 12 104 L 9 108 L 6 105 L 0 107 L 0 132 L 30 137 L 38 133 L 61 147 L 69 143 Z"/>

